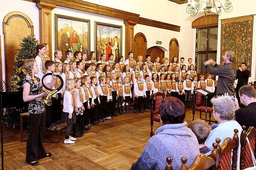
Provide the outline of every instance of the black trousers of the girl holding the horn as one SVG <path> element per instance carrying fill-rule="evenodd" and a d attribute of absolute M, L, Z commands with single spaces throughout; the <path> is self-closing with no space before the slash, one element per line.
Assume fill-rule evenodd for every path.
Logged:
<path fill-rule="evenodd" d="M 26 151 L 27 163 L 37 161 L 46 156 L 46 151 L 43 146 L 44 130 L 45 112 L 42 114 L 31 114 Z"/>

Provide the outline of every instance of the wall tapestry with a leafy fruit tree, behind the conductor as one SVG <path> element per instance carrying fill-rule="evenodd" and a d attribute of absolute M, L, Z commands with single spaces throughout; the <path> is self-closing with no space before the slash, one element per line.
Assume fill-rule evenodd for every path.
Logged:
<path fill-rule="evenodd" d="M 223 19 L 221 21 L 221 56 L 226 51 L 233 51 L 236 54 L 236 68 L 238 69 L 241 63 L 246 63 L 247 70 L 251 71 L 252 38 L 253 15 Z M 223 65 L 222 57 L 221 64 Z"/>

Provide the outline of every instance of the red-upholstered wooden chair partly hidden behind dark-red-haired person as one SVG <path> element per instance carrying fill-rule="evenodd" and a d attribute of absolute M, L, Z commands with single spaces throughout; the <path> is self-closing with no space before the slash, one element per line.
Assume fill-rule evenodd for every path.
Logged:
<path fill-rule="evenodd" d="M 153 107 L 154 98 L 156 98 L 155 110 L 154 110 L 154 107 Z M 150 137 L 154 135 L 154 133 L 153 133 L 154 121 L 155 122 L 160 122 L 158 108 L 159 108 L 159 105 L 161 104 L 161 102 L 164 98 L 165 98 L 164 93 L 157 92 L 156 94 L 153 94 L 153 92 L 152 92 L 152 95 L 151 95 L 151 111 L 150 111 L 150 125 L 151 125 Z"/>

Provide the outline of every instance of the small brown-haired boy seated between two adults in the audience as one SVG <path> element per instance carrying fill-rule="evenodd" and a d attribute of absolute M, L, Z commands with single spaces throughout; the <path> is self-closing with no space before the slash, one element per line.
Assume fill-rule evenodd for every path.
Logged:
<path fill-rule="evenodd" d="M 211 131 L 209 125 L 205 123 L 205 121 L 197 119 L 189 123 L 188 128 L 191 129 L 197 137 L 200 153 L 203 153 L 206 156 L 211 156 L 212 150 L 203 145 Z"/>

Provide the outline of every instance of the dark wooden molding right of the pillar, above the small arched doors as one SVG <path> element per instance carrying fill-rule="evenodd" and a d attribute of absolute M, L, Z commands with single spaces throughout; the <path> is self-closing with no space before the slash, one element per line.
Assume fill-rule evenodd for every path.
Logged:
<path fill-rule="evenodd" d="M 180 29 L 181 29 L 180 26 L 176 26 L 173 24 L 160 22 L 160 21 L 156 21 L 156 20 L 152 20 L 152 19 L 142 18 L 142 17 L 139 17 L 138 24 L 142 24 L 142 25 L 150 26 L 150 27 L 161 28 L 161 29 L 165 29 L 165 30 L 177 31 L 177 32 L 180 32 Z"/>

